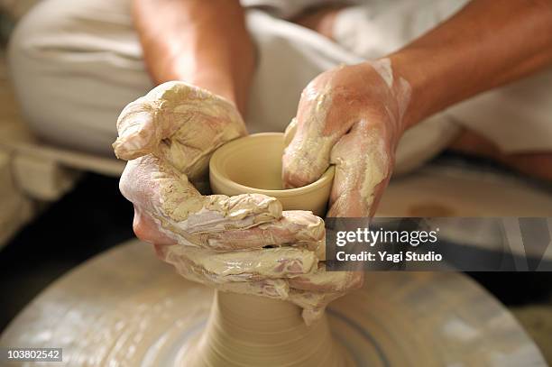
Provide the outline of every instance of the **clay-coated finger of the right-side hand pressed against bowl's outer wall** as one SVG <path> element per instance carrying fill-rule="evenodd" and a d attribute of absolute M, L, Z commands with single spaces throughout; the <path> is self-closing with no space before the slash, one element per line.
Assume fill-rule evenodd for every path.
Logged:
<path fill-rule="evenodd" d="M 381 127 L 365 120 L 354 124 L 332 150 L 336 176 L 327 216 L 373 216 L 391 176 L 390 147 Z"/>

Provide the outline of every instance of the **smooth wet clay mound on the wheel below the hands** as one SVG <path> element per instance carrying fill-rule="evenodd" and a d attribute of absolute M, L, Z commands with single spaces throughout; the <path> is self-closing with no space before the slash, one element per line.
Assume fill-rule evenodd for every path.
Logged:
<path fill-rule="evenodd" d="M 189 366 L 353 366 L 327 317 L 307 326 L 289 302 L 216 292 L 207 327 L 183 361 Z"/>

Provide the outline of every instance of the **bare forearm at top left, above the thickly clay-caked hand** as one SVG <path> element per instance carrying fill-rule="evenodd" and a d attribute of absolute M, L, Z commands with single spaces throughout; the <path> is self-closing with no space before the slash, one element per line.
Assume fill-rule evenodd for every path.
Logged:
<path fill-rule="evenodd" d="M 254 49 L 237 0 L 133 0 L 133 19 L 152 80 L 183 80 L 244 111 Z"/>

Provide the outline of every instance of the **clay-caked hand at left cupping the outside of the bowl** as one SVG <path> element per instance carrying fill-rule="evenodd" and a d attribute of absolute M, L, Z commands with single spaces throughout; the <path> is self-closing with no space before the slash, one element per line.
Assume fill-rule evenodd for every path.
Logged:
<path fill-rule="evenodd" d="M 134 231 L 189 280 L 217 289 L 288 299 L 316 319 L 327 303 L 359 285 L 352 273 L 329 276 L 324 222 L 310 212 L 282 212 L 262 195 L 202 196 L 208 158 L 245 134 L 225 99 L 170 82 L 126 106 L 114 143 L 129 160 L 121 177 L 134 205 Z"/>

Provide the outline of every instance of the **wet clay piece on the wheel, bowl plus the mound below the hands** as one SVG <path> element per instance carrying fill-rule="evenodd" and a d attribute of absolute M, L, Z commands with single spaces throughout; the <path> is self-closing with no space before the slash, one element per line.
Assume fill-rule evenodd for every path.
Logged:
<path fill-rule="evenodd" d="M 224 195 L 260 193 L 278 198 L 284 210 L 313 210 L 323 215 L 333 171 L 310 187 L 284 190 L 283 149 L 281 133 L 256 134 L 226 144 L 210 162 L 213 191 Z M 317 258 L 314 252 L 306 253 L 312 254 L 313 261 Z M 308 259 L 304 260 L 302 266 L 308 266 Z M 267 271 L 263 274 L 270 275 Z M 206 330 L 189 347 L 184 360 L 187 365 L 215 367 L 354 365 L 333 340 L 325 315 L 307 325 L 301 308 L 290 302 L 224 291 L 216 292 Z"/>

